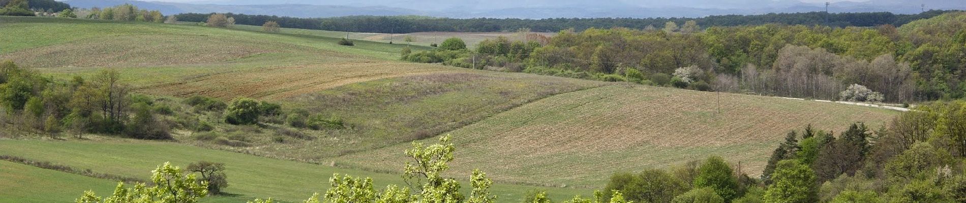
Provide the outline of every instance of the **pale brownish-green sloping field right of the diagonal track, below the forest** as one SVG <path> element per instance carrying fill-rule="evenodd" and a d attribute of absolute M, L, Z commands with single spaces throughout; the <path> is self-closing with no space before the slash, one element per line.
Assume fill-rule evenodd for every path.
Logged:
<path fill-rule="evenodd" d="M 875 129 L 895 112 L 825 102 L 714 92 L 610 86 L 554 95 L 451 132 L 467 174 L 488 168 L 496 180 L 599 187 L 611 172 L 680 165 L 709 155 L 757 174 L 785 133 L 811 123 L 842 131 Z M 337 159 L 364 167 L 399 165 L 407 144 Z M 349 165 L 349 164 L 347 164 Z M 565 173 L 561 173 L 565 171 Z"/>

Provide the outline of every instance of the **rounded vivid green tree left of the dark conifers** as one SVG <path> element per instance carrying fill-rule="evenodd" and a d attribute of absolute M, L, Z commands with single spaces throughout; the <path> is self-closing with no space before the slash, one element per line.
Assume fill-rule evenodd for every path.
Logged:
<path fill-rule="evenodd" d="M 727 202 L 740 196 L 738 181 L 732 175 L 731 166 L 727 165 L 721 157 L 709 157 L 697 168 L 697 171 L 695 188 L 710 188 Z"/>

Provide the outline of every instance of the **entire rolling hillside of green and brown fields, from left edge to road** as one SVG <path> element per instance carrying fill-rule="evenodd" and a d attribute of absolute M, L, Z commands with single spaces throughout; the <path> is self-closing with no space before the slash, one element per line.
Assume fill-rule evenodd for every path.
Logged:
<path fill-rule="evenodd" d="M 721 94 L 717 114 L 712 92 L 403 63 L 396 59 L 404 48 L 431 47 L 368 40 L 340 46 L 331 33 L 6 16 L 0 16 L 0 27 L 0 60 L 54 78 L 115 68 L 136 92 L 176 108 L 186 108 L 177 105 L 192 95 L 253 97 L 349 123 L 343 130 L 299 130 L 308 139 L 290 141 L 272 140 L 277 125 L 215 123 L 212 134 L 241 135 L 248 143 L 240 146 L 195 140 L 192 132 L 179 130 L 171 141 L 0 138 L 0 155 L 135 177 L 163 162 L 223 162 L 235 177 L 228 191 L 242 198 L 303 199 L 325 190 L 334 172 L 399 184 L 399 156 L 408 142 L 448 132 L 458 144 L 452 174 L 465 178 L 476 167 L 489 172 L 500 183 L 494 189 L 499 202 L 519 201 L 531 189 L 567 199 L 586 196 L 613 171 L 713 154 L 742 162 L 743 171 L 754 174 L 788 130 L 809 123 L 835 130 L 855 121 L 879 126 L 895 114 L 729 93 Z M 0 162 L 0 169 L 14 167 L 24 166 Z M 27 174 L 14 173 L 38 184 L 50 181 Z M 113 187 L 51 175 L 57 176 L 69 180 L 65 189 Z M 71 197 L 50 191 L 56 195 L 33 199 L 39 197 L 33 190 L 15 192 L 15 201 Z"/>

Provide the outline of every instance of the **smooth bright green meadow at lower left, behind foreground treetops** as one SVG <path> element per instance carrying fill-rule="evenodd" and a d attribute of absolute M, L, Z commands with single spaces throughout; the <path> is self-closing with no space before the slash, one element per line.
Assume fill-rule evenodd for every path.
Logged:
<path fill-rule="evenodd" d="M 399 153 L 402 153 L 400 151 Z M 71 165 L 78 168 L 91 168 L 99 172 L 107 172 L 130 177 L 147 179 L 151 170 L 164 162 L 171 162 L 174 165 L 187 165 L 196 161 L 221 162 L 226 165 L 226 172 L 230 186 L 225 190 L 229 193 L 239 194 L 234 199 L 244 199 L 251 197 L 273 197 L 285 201 L 298 201 L 308 198 L 313 192 L 325 192 L 328 188 L 328 178 L 333 173 L 350 174 L 354 176 L 372 177 L 378 188 L 382 189 L 387 184 L 405 186 L 402 179 L 397 174 L 368 172 L 354 169 L 331 167 L 327 165 L 312 165 L 291 161 L 282 161 L 270 158 L 256 157 L 239 153 L 225 152 L 220 150 L 203 149 L 193 146 L 172 142 L 157 141 L 43 141 L 43 140 L 0 140 L 0 154 L 14 155 L 27 159 L 48 161 L 62 165 Z M 7 170 L 8 163 L 0 162 L 0 171 Z M 17 165 L 14 165 L 17 166 Z M 24 165 L 26 166 L 26 165 Z M 403 165 L 394 165 L 392 168 L 402 170 Z M 95 189 L 100 194 L 109 192 L 116 185 L 112 181 L 99 180 L 87 177 L 72 177 L 70 174 L 60 173 L 53 179 L 45 178 L 47 173 L 44 169 L 30 168 L 30 173 L 0 173 L 0 177 L 12 175 L 19 179 L 0 178 L 0 183 L 13 180 L 19 183 L 20 179 L 30 181 L 41 179 L 41 182 L 30 183 L 36 185 L 15 185 L 20 189 L 14 190 L 12 199 L 17 202 L 43 200 L 49 201 L 70 201 L 76 198 L 83 190 Z M 36 168 L 36 169 L 34 169 Z M 22 167 L 11 168 L 22 170 Z M 34 170 L 38 170 L 35 177 Z M 74 175 L 75 176 L 75 175 Z M 60 177 L 64 177 L 61 179 Z M 459 176 L 461 180 L 467 177 Z M 43 187 L 50 181 L 57 181 L 58 187 Z M 44 182 L 46 181 L 46 182 Z M 26 183 L 24 183 L 26 184 Z M 469 183 L 464 183 L 469 189 Z M 0 189 L 11 184 L 0 184 Z M 517 185 L 497 184 L 493 191 L 499 195 L 499 202 L 518 202 L 526 193 L 526 190 L 536 187 L 526 187 Z M 554 199 L 566 199 L 575 194 L 587 195 L 588 190 L 577 189 L 552 189 L 549 190 Z M 8 191 L 8 190 L 4 190 Z M 56 192 L 54 192 L 56 191 Z M 468 190 L 469 191 L 469 190 Z M 57 195 L 40 195 L 45 192 L 54 192 Z M 75 196 L 76 195 L 76 196 Z M 4 196 L 0 195 L 0 201 Z"/>

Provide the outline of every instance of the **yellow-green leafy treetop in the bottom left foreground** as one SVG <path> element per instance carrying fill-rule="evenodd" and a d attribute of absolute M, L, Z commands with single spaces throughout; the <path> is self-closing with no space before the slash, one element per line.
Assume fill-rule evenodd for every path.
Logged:
<path fill-rule="evenodd" d="M 197 181 L 194 174 L 184 175 L 180 167 L 171 163 L 158 165 L 152 173 L 151 181 L 154 185 L 151 187 L 138 183 L 133 189 L 128 189 L 124 183 L 118 183 L 111 196 L 100 198 L 94 191 L 87 190 L 76 202 L 196 203 L 198 199 L 208 195 L 207 183 Z"/>

